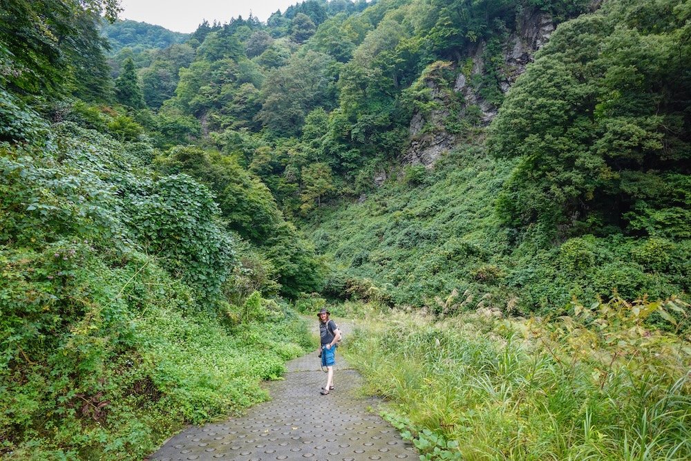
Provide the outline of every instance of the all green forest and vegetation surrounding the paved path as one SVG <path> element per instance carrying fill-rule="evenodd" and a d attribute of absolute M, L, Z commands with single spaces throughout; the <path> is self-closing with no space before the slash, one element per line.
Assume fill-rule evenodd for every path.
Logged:
<path fill-rule="evenodd" d="M 329 303 L 424 316 L 351 352 L 423 459 L 691 456 L 690 1 L 307 0 L 191 35 L 118 12 L 0 0 L 0 455 L 142 459 L 266 399 Z M 531 368 L 514 335 L 561 346 Z M 472 388 L 444 373 L 509 352 L 554 380 L 515 410 L 529 453 L 509 411 L 507 440 L 460 429 L 480 391 L 411 378 Z M 583 387 L 542 400 L 559 380 Z"/>

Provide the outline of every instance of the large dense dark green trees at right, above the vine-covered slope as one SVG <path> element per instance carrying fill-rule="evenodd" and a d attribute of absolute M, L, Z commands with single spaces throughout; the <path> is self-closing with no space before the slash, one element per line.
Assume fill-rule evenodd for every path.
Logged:
<path fill-rule="evenodd" d="M 691 51 L 679 41 L 686 12 L 675 5 L 613 0 L 553 34 L 491 127 L 491 151 L 516 158 L 498 201 L 504 222 L 560 226 L 567 236 L 687 238 L 680 102 Z M 659 15 L 668 15 L 664 28 Z"/>

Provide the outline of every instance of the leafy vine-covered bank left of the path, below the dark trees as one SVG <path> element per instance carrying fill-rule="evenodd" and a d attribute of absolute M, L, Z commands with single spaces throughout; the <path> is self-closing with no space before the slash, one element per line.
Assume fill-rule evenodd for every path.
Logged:
<path fill-rule="evenodd" d="M 66 113 L 100 124 L 92 109 Z M 142 459 L 185 424 L 266 399 L 259 382 L 309 335 L 255 291 L 268 263 L 245 248 L 235 265 L 209 189 L 155 175 L 143 143 L 43 123 L 47 138 L 25 127 L 0 147 L 3 458 Z M 232 330 L 226 293 L 250 325 Z"/>

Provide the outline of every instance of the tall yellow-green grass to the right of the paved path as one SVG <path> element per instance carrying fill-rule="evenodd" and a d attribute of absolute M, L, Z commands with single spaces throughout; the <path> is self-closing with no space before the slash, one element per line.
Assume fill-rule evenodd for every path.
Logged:
<path fill-rule="evenodd" d="M 399 312 L 351 335 L 348 355 L 421 459 L 690 459 L 688 338 L 635 307 L 549 322 Z"/>

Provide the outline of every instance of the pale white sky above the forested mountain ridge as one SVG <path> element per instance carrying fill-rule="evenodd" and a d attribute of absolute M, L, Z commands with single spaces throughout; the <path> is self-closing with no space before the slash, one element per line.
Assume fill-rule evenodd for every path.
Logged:
<path fill-rule="evenodd" d="M 231 17 L 249 16 L 249 12 L 266 21 L 276 10 L 299 0 L 120 0 L 121 19 L 158 24 L 176 32 L 193 32 L 206 19 L 227 23 Z"/>

